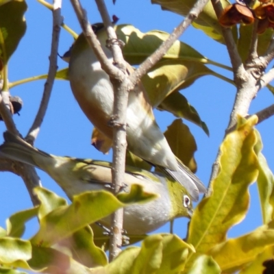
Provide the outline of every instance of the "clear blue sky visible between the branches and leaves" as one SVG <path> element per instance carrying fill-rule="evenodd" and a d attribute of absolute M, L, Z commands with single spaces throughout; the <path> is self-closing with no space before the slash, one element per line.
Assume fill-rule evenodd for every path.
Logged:
<path fill-rule="evenodd" d="M 92 2 L 93 1 L 83 1 L 83 4 L 88 10 L 90 22 L 97 23 L 101 21 L 101 18 L 95 4 Z M 117 0 L 116 5 L 113 5 L 110 0 L 107 2 L 110 14 L 115 14 L 120 18 L 119 24 L 132 24 L 142 32 L 147 32 L 152 29 L 171 32 L 182 20 L 181 16 L 162 11 L 160 6 L 151 5 L 150 1 L 147 0 Z M 27 32 L 21 40 L 16 53 L 14 53 L 10 60 L 10 82 L 25 77 L 45 74 L 48 70 L 48 57 L 51 46 L 51 12 L 36 1 L 29 1 L 28 4 L 29 8 L 25 14 Z M 64 1 L 62 8 L 64 23 L 74 29 L 75 32 L 81 32 L 79 23 L 71 8 L 71 3 Z M 190 27 L 180 39 L 197 49 L 197 51 L 206 57 L 216 62 L 230 65 L 225 46 L 214 42 L 203 34 L 203 32 Z M 60 55 L 69 49 L 72 42 L 73 38 L 62 29 L 59 48 Z M 67 64 L 59 59 L 58 66 L 62 69 L 66 67 Z M 223 71 L 219 70 L 219 73 L 223 73 Z M 227 77 L 232 78 L 231 74 L 225 73 Z M 32 121 L 38 110 L 44 84 L 44 81 L 32 82 L 12 88 L 11 90 L 12 95 L 21 97 L 24 102 L 20 116 L 14 116 L 14 121 L 23 136 L 27 134 L 30 125 L 32 125 Z M 229 121 L 229 114 L 232 110 L 235 92 L 234 86 L 226 84 L 212 76 L 202 77 L 186 90 L 182 90 L 182 93 L 196 108 L 201 119 L 206 122 L 210 130 L 210 137 L 208 138 L 199 127 L 186 122 L 197 141 L 198 151 L 195 153 L 198 164 L 197 175 L 206 185 L 208 185 L 212 163 L 214 162 Z M 258 97 L 251 105 L 249 114 L 265 108 L 271 104 L 272 100 L 273 96 L 268 90 L 260 91 Z M 171 114 L 158 111 L 155 111 L 155 116 L 163 131 L 172 123 L 173 119 L 175 119 Z M 265 121 L 262 125 L 258 125 L 264 144 L 263 153 L 269 162 L 269 166 L 273 169 L 273 138 L 271 138 L 272 134 L 269 134 L 271 127 L 273 127 L 273 118 Z M 5 125 L 3 123 L 0 123 L 0 131 L 5 131 Z M 73 98 L 69 82 L 56 81 L 49 103 L 49 109 L 42 123 L 35 146 L 55 155 L 111 160 L 111 155 L 103 155 L 90 145 L 91 131 L 92 125 L 86 119 Z M 3 142 L 2 136 L 0 136 L 0 142 Z M 38 171 L 38 174 L 42 179 L 43 186 L 64 196 L 62 190 L 46 173 Z M 5 227 L 5 219 L 7 219 L 10 214 L 31 207 L 32 203 L 20 177 L 7 172 L 0 173 L 0 182 L 0 226 Z M 186 234 L 186 223 L 186 219 L 178 219 L 175 222 L 175 233 L 183 238 Z M 229 231 L 229 236 L 239 236 L 249 232 L 261 223 L 260 205 L 258 203 L 256 184 L 254 184 L 251 186 L 250 212 L 245 221 Z M 36 222 L 30 222 L 25 237 L 32 236 L 37 228 L 38 225 Z M 166 225 L 159 231 L 167 232 L 168 229 L 169 226 Z"/>

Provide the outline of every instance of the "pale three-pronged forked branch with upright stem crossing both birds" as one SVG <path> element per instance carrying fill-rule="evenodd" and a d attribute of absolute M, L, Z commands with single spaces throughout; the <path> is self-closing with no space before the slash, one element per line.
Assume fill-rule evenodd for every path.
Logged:
<path fill-rule="evenodd" d="M 186 27 L 190 25 L 190 23 L 197 18 L 198 14 L 203 9 L 204 5 L 208 2 L 208 0 L 197 1 L 194 7 L 190 10 L 188 16 L 179 24 L 179 26 L 174 30 L 174 32 L 169 36 L 169 38 L 162 43 L 162 45 L 153 53 L 145 62 L 140 64 L 139 68 L 132 73 L 132 75 L 125 75 L 124 71 L 124 61 L 121 49 L 119 48 L 119 44 L 115 43 L 117 40 L 116 34 L 112 27 L 112 23 L 110 21 L 110 16 L 108 15 L 108 11 L 105 8 L 105 3 L 103 0 L 95 0 L 97 2 L 97 6 L 101 16 L 103 18 L 104 25 L 106 26 L 108 32 L 108 39 L 110 42 L 110 46 L 112 47 L 112 54 L 114 57 L 114 64 L 116 64 L 120 69 L 117 69 L 116 66 L 113 66 L 110 61 L 105 57 L 99 42 L 90 27 L 90 23 L 88 23 L 88 19 L 86 18 L 86 12 L 82 9 L 78 0 L 71 0 L 73 4 L 73 8 L 77 14 L 77 18 L 79 20 L 80 25 L 82 26 L 84 35 L 88 40 L 88 43 L 94 50 L 95 54 L 99 62 L 101 63 L 102 69 L 110 75 L 110 79 L 114 86 L 114 156 L 113 156 L 113 182 L 114 188 L 119 191 L 121 182 L 123 182 L 123 174 L 124 174 L 124 166 L 125 166 L 125 149 L 126 149 L 126 139 L 125 139 L 125 123 L 126 123 L 126 109 L 127 109 L 127 98 L 128 91 L 132 90 L 140 78 L 147 73 L 151 67 L 156 64 L 166 53 L 166 51 L 173 45 L 175 40 L 184 32 Z M 118 80 L 118 81 L 117 81 Z M 121 211 L 122 212 L 122 211 Z M 121 221 L 117 221 L 117 216 L 119 216 L 119 220 L 123 218 L 123 213 L 116 212 L 112 218 L 112 234 L 114 235 L 111 238 L 111 250 L 110 250 L 110 260 L 112 260 L 119 249 L 117 247 L 121 246 Z"/>

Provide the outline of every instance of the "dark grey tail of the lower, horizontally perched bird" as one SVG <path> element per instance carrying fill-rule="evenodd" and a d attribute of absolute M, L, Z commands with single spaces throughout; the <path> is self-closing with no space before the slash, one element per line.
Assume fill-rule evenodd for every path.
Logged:
<path fill-rule="evenodd" d="M 25 164 L 31 164 L 32 166 L 40 168 L 36 159 L 41 158 L 41 156 L 46 158 L 50 156 L 48 153 L 32 147 L 32 145 L 29 145 L 29 143 L 25 142 L 19 136 L 10 132 L 4 132 L 3 136 L 5 142 L 0 146 L 0 157 L 24 162 Z"/>

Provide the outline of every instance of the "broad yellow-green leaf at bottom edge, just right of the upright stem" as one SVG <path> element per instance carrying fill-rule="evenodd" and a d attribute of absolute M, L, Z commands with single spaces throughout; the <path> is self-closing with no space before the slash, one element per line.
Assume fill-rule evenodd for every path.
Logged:
<path fill-rule="evenodd" d="M 94 273 L 175 274 L 184 269 L 189 250 L 195 251 L 175 235 L 153 234 L 143 240 L 141 247 L 128 247 L 113 262 Z"/>

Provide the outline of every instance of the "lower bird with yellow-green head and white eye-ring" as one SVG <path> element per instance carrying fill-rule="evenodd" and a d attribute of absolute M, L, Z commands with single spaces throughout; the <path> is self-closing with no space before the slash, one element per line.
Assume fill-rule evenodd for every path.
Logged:
<path fill-rule="evenodd" d="M 88 190 L 112 191 L 111 163 L 89 159 L 55 156 L 29 145 L 22 138 L 4 132 L 0 157 L 36 166 L 45 171 L 69 199 Z M 192 216 L 192 201 L 186 188 L 161 173 L 126 166 L 121 192 L 129 192 L 132 184 L 145 192 L 158 195 L 147 203 L 136 203 L 124 208 L 123 229 L 128 235 L 142 235 L 158 229 L 173 219 Z M 99 221 L 110 228 L 110 216 Z"/>

